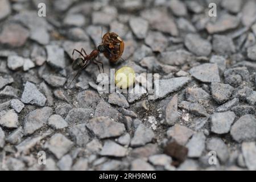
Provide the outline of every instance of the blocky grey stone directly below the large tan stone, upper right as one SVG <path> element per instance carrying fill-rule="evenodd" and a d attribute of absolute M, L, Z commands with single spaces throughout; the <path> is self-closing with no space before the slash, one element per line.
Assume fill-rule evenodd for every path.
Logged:
<path fill-rule="evenodd" d="M 225 35 L 213 35 L 213 51 L 219 55 L 230 55 L 236 52 L 232 38 Z"/>

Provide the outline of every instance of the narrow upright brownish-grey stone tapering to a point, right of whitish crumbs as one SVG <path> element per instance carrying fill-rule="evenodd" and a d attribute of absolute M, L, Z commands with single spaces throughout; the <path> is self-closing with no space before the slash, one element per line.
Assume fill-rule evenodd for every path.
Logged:
<path fill-rule="evenodd" d="M 166 123 L 169 126 L 174 125 L 180 118 L 177 111 L 177 94 L 172 97 L 172 100 L 166 106 Z"/>

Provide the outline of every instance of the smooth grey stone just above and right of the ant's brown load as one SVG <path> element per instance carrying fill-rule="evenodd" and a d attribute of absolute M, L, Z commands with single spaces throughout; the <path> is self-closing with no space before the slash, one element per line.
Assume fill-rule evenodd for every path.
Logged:
<path fill-rule="evenodd" d="M 138 39 L 144 39 L 147 35 L 148 22 L 143 18 L 131 18 L 129 20 L 131 30 L 137 36 Z"/>

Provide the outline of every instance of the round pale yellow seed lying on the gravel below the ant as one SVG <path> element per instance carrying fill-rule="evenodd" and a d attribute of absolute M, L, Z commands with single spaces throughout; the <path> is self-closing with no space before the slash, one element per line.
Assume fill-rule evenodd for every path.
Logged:
<path fill-rule="evenodd" d="M 135 72 L 131 67 L 122 67 L 115 72 L 115 85 L 121 89 L 132 86 L 135 82 Z"/>

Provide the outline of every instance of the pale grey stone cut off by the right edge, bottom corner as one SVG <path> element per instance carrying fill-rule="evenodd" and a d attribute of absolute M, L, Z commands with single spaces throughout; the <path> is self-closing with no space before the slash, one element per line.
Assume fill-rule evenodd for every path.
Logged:
<path fill-rule="evenodd" d="M 256 146 L 255 142 L 243 142 L 242 143 L 242 153 L 245 159 L 245 164 L 247 168 L 251 171 L 256 170 Z"/>

